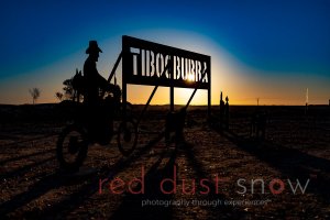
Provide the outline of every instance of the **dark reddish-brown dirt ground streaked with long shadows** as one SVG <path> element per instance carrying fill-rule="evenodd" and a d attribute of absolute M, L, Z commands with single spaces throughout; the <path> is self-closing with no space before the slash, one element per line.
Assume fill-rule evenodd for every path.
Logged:
<path fill-rule="evenodd" d="M 250 135 L 251 109 L 231 108 L 228 131 L 194 109 L 185 143 L 169 147 L 165 111 L 152 111 L 132 155 L 114 138 L 89 145 L 76 174 L 56 161 L 66 122 L 2 123 L 0 218 L 329 219 L 330 109 L 266 111 L 260 140 Z"/>

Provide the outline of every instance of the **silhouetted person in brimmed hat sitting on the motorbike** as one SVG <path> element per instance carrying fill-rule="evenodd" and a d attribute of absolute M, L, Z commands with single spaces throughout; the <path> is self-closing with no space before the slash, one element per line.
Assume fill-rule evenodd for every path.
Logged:
<path fill-rule="evenodd" d="M 102 53 L 98 43 L 89 41 L 89 47 L 86 50 L 89 56 L 84 64 L 86 80 L 84 102 L 87 106 L 86 121 L 91 141 L 107 144 L 113 132 L 113 108 L 120 102 L 121 91 L 119 86 L 108 82 L 98 73 L 96 63 L 100 52 Z M 110 91 L 113 97 L 105 100 L 101 90 Z"/>

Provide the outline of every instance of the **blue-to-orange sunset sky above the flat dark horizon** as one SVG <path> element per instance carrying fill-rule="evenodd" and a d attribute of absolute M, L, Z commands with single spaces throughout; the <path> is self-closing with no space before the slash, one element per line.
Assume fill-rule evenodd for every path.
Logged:
<path fill-rule="evenodd" d="M 34 87 L 37 102 L 57 102 L 90 40 L 103 51 L 98 69 L 108 78 L 122 35 L 210 55 L 212 105 L 220 90 L 231 105 L 305 105 L 307 88 L 311 105 L 330 99 L 328 0 L 11 0 L 1 2 L 0 19 L 0 103 L 31 103 Z M 130 86 L 128 99 L 145 103 L 152 89 Z M 175 103 L 191 92 L 176 89 Z M 152 103 L 168 97 L 161 88 Z M 207 92 L 193 105 L 207 105 Z"/>

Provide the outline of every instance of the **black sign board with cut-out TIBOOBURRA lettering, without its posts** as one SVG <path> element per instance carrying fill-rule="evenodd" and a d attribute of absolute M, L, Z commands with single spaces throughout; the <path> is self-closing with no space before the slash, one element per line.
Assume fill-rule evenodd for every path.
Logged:
<path fill-rule="evenodd" d="M 210 89 L 210 56 L 131 36 L 122 42 L 125 82 Z"/>

